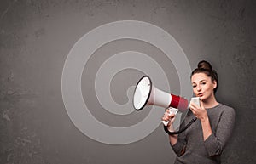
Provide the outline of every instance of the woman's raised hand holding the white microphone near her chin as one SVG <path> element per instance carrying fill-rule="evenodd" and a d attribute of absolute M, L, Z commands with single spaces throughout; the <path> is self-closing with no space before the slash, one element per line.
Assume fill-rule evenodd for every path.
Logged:
<path fill-rule="evenodd" d="M 200 105 L 201 106 L 197 106 L 197 105 L 195 105 L 195 103 L 190 102 L 189 108 L 198 119 L 203 121 L 208 118 L 208 115 L 207 115 L 207 110 L 205 109 L 205 107 L 201 101 L 200 101 Z"/>

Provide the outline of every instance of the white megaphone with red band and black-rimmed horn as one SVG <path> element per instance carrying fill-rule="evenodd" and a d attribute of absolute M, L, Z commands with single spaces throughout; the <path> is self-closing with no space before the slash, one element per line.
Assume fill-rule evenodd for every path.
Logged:
<path fill-rule="evenodd" d="M 172 93 L 166 93 L 152 85 L 148 76 L 143 76 L 135 88 L 133 96 L 133 106 L 136 110 L 142 110 L 146 105 L 157 105 L 163 108 L 175 108 L 178 110 L 187 110 L 188 100 Z M 164 122 L 166 126 L 168 122 Z"/>

